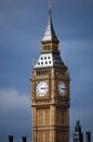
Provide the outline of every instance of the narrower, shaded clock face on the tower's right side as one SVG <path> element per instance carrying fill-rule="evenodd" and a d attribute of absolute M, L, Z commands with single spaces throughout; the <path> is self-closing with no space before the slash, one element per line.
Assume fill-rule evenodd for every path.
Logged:
<path fill-rule="evenodd" d="M 58 90 L 61 96 L 64 96 L 66 94 L 66 90 L 67 90 L 66 84 L 63 81 L 58 82 L 57 90 Z"/>

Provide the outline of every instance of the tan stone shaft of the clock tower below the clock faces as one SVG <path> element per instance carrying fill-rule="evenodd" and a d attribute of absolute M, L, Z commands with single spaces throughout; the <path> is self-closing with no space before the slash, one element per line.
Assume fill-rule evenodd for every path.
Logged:
<path fill-rule="evenodd" d="M 69 142 L 68 108 L 45 104 L 32 113 L 32 142 Z"/>

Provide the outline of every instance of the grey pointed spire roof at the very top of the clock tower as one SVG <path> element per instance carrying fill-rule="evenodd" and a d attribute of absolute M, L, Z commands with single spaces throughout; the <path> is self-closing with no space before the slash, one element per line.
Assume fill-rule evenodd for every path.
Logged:
<path fill-rule="evenodd" d="M 54 32 L 54 27 L 53 27 L 53 24 L 52 24 L 52 11 L 51 11 L 51 9 L 49 11 L 48 26 L 46 26 L 45 33 L 44 33 L 41 42 L 42 43 L 45 43 L 45 42 L 57 42 L 58 43 L 57 36 Z"/>

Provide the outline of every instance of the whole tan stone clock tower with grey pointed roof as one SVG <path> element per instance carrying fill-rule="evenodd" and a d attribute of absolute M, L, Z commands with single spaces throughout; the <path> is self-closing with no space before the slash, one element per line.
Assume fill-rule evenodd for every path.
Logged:
<path fill-rule="evenodd" d="M 69 73 L 61 58 L 52 12 L 31 73 L 31 142 L 69 142 Z"/>

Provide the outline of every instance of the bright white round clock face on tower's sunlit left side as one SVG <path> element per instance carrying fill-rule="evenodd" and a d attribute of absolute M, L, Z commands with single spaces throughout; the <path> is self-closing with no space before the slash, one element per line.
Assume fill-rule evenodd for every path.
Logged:
<path fill-rule="evenodd" d="M 45 81 L 40 81 L 36 86 L 38 96 L 45 96 L 49 91 L 49 85 Z"/>

